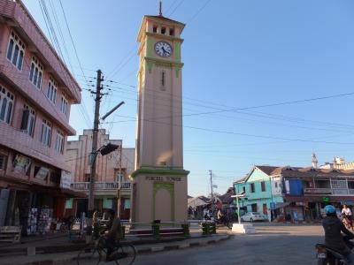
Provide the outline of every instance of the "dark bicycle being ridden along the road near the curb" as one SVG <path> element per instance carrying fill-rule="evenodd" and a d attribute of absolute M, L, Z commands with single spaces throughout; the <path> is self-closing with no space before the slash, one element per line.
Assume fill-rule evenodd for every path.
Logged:
<path fill-rule="evenodd" d="M 107 251 L 104 247 L 104 236 L 100 236 L 92 244 L 81 249 L 77 256 L 77 265 L 99 264 L 100 262 L 111 262 L 116 265 L 131 265 L 135 261 L 135 246 L 130 243 L 119 242 L 110 255 L 112 259 L 106 261 Z"/>

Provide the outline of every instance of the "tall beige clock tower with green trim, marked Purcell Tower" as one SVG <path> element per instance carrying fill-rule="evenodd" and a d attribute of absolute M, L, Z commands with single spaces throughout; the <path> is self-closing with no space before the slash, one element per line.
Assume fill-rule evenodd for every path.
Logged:
<path fill-rule="evenodd" d="M 132 222 L 187 220 L 182 150 L 181 33 L 184 24 L 144 16 L 137 42 L 138 110 Z"/>

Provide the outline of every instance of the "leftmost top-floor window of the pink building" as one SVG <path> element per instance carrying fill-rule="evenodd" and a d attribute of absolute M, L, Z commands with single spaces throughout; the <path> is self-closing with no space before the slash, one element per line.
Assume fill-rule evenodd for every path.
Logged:
<path fill-rule="evenodd" d="M 25 43 L 13 31 L 10 35 L 9 46 L 7 47 L 6 57 L 17 69 L 22 69 L 23 57 L 25 56 Z"/>

